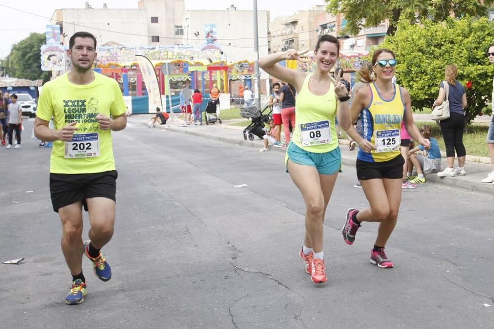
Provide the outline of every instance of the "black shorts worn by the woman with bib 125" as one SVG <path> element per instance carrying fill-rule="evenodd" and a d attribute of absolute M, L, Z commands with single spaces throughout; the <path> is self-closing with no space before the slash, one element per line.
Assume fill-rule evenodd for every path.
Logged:
<path fill-rule="evenodd" d="M 357 159 L 357 178 L 359 181 L 383 178 L 402 179 L 404 163 L 405 159 L 401 154 L 384 162 L 368 162 Z"/>

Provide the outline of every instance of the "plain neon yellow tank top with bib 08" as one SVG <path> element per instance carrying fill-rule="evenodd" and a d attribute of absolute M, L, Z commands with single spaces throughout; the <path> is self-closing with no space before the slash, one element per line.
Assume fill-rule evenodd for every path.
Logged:
<path fill-rule="evenodd" d="M 325 153 L 338 147 L 334 128 L 336 96 L 332 83 L 326 94 L 313 94 L 309 90 L 311 76 L 307 74 L 297 94 L 292 142 L 309 152 Z"/>

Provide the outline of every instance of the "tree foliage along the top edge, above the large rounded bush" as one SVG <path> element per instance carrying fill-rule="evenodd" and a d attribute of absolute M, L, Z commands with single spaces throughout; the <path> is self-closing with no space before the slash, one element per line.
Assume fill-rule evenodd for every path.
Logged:
<path fill-rule="evenodd" d="M 326 10 L 345 15 L 345 33 L 358 35 L 362 28 L 371 28 L 389 20 L 388 35 L 396 32 L 399 21 L 409 24 L 426 19 L 444 21 L 455 17 L 486 16 L 494 0 L 325 0 Z"/>

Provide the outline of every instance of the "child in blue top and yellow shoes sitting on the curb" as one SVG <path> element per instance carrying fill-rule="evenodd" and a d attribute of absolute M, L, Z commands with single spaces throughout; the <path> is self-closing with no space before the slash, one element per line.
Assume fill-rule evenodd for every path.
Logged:
<path fill-rule="evenodd" d="M 424 146 L 419 145 L 418 147 L 412 148 L 409 154 L 409 169 L 407 173 L 407 178 L 410 178 L 410 183 L 425 183 L 424 173 L 436 173 L 441 171 L 441 151 L 439 150 L 439 145 L 435 138 L 431 137 L 432 129 L 429 125 L 424 125 L 420 128 L 420 134 L 423 138 L 430 141 L 430 147 L 427 149 L 427 157 L 415 154 L 418 150 L 424 150 Z M 416 177 L 412 177 L 413 167 L 417 170 Z"/>

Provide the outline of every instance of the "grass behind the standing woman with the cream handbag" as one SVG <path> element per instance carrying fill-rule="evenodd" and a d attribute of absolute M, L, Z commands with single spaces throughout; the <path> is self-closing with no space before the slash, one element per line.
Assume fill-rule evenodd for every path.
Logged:
<path fill-rule="evenodd" d="M 441 130 L 435 121 L 419 121 L 415 123 L 420 129 L 425 124 L 428 124 L 432 128 L 432 137 L 437 140 L 439 148 L 446 152 L 446 146 L 444 145 L 443 136 Z M 466 154 L 476 156 L 489 156 L 489 150 L 486 145 L 487 131 L 489 125 L 472 123 L 467 126 L 463 133 L 463 145 L 466 149 Z"/>

